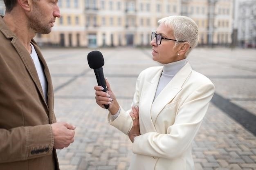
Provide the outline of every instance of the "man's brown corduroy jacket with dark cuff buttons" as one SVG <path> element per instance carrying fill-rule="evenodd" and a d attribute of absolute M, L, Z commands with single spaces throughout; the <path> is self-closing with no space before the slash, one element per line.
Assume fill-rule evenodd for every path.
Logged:
<path fill-rule="evenodd" d="M 31 43 L 47 79 L 47 101 L 30 54 L 0 17 L 0 170 L 59 170 L 52 80 Z"/>

